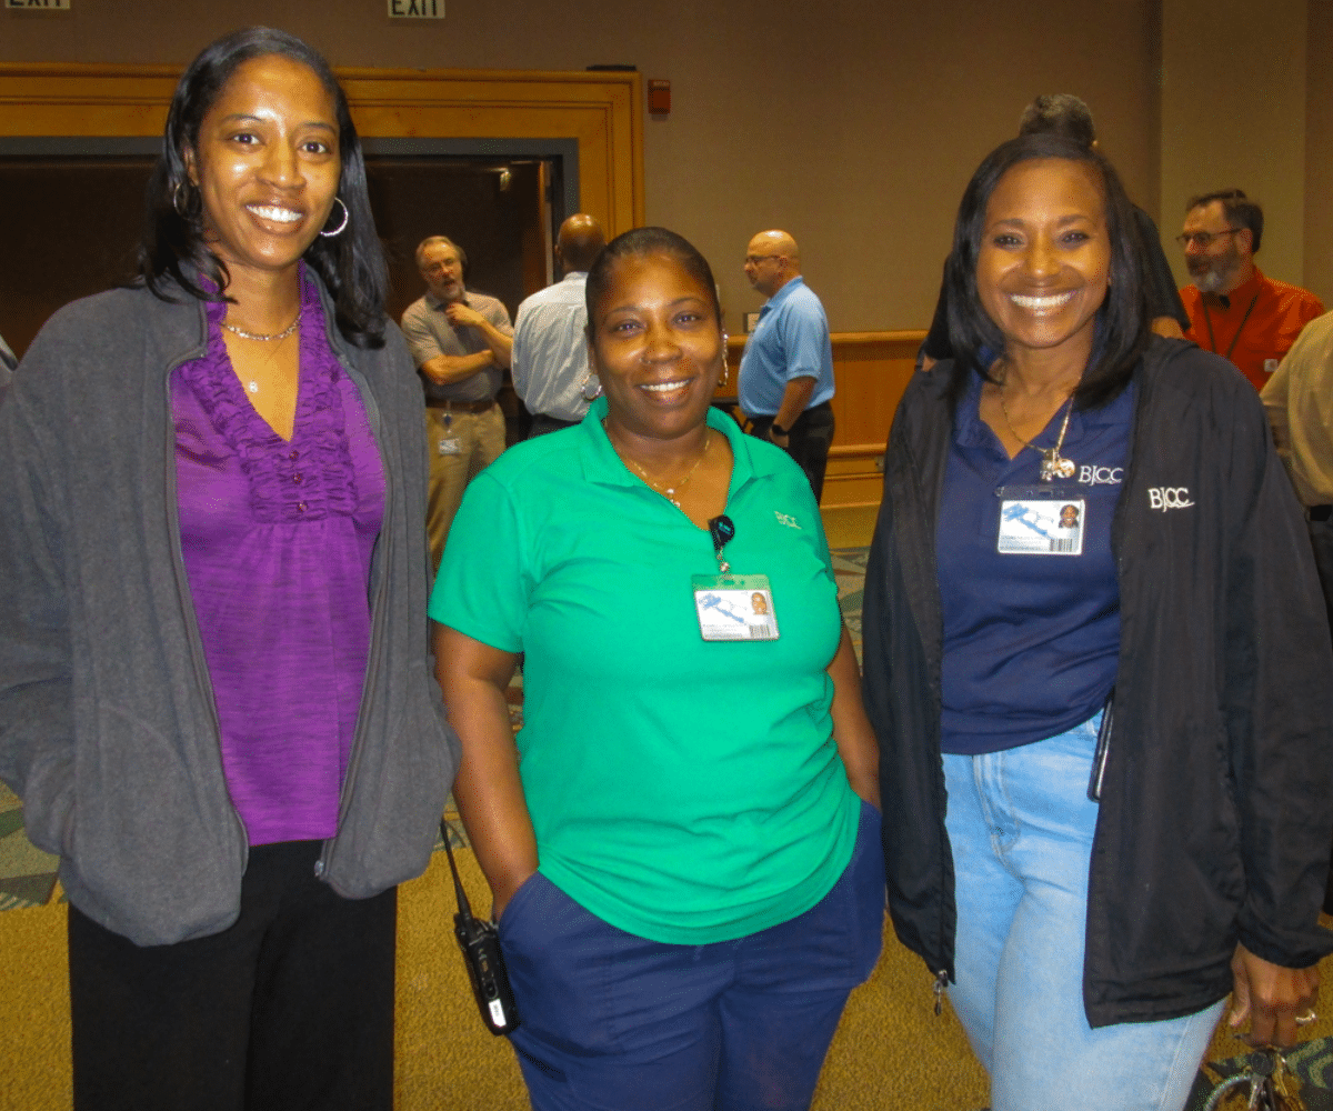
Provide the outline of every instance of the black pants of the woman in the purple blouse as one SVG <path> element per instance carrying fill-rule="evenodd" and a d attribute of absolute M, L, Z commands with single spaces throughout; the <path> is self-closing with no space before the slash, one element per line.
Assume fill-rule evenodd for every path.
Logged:
<path fill-rule="evenodd" d="M 140 948 L 69 908 L 76 1111 L 391 1111 L 397 891 L 343 899 L 320 844 L 252 848 L 208 938 Z"/>

